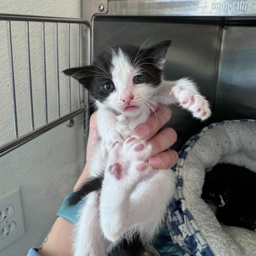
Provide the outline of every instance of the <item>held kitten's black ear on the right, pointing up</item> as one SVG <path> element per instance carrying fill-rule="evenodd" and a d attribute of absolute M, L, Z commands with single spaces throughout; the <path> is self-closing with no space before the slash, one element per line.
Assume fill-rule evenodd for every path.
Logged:
<path fill-rule="evenodd" d="M 147 54 L 153 57 L 153 63 L 158 66 L 159 69 L 163 69 L 165 63 L 166 52 L 171 45 L 172 41 L 167 40 L 151 46 Z"/>

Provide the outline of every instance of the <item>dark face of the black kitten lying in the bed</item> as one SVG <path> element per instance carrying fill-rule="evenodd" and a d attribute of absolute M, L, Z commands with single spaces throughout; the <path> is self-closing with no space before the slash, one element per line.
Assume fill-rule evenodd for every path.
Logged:
<path fill-rule="evenodd" d="M 226 205 L 229 199 L 229 184 L 223 182 L 221 177 L 213 172 L 205 174 L 202 198 L 205 202 L 217 207 Z"/>

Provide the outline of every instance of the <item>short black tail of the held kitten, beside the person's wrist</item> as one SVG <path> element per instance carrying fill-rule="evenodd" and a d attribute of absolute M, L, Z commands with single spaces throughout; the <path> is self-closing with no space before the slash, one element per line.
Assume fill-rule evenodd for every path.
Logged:
<path fill-rule="evenodd" d="M 75 191 L 67 201 L 67 206 L 75 206 L 83 197 L 92 191 L 100 190 L 102 187 L 103 176 L 93 177 L 86 180 L 77 191 Z"/>

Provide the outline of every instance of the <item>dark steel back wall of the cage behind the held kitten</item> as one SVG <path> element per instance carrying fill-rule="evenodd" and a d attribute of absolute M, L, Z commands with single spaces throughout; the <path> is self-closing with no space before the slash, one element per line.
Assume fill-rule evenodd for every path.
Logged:
<path fill-rule="evenodd" d="M 198 25 L 165 22 L 141 22 L 94 19 L 94 55 L 109 45 L 146 45 L 172 39 L 166 55 L 165 76 L 175 80 L 191 77 L 214 107 L 216 92 L 216 62 L 222 28 L 218 25 Z M 182 145 L 198 129 L 211 122 L 199 122 L 180 107 L 172 106 L 173 117 L 167 124 L 178 132 Z"/>

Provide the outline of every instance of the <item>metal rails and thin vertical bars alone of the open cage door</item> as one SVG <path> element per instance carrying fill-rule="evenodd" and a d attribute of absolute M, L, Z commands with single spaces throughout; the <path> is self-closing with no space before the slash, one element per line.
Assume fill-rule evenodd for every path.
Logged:
<path fill-rule="evenodd" d="M 84 95 L 84 104 L 81 103 L 81 89 L 79 83 L 77 84 L 77 93 L 78 93 L 78 109 L 71 111 L 71 93 L 70 93 L 70 77 L 68 79 L 68 110 L 69 113 L 66 115 L 61 115 L 60 111 L 60 83 L 59 83 L 59 52 L 58 52 L 58 24 L 67 23 L 67 47 L 68 47 L 68 68 L 70 67 L 70 23 L 76 23 L 77 26 L 77 65 L 80 64 L 80 54 L 81 54 L 81 45 L 80 45 L 80 25 L 83 24 L 88 30 L 88 49 L 87 53 L 87 62 L 90 63 L 90 37 L 91 29 L 89 22 L 82 19 L 70 19 L 70 18 L 52 18 L 52 17 L 36 17 L 36 16 L 26 16 L 26 15 L 9 15 L 9 14 L 0 14 L 0 20 L 6 20 L 7 28 L 7 40 L 9 47 L 9 64 L 10 64 L 10 76 L 11 76 L 11 94 L 12 94 L 12 107 L 13 107 L 13 127 L 14 127 L 14 139 L 0 145 L 0 157 L 9 153 L 13 149 L 23 145 L 24 143 L 38 137 L 39 135 L 45 133 L 46 131 L 51 130 L 53 127 L 58 126 L 59 124 L 70 120 L 71 118 L 84 113 L 85 115 L 85 137 L 87 141 L 88 134 L 88 95 L 85 92 Z M 30 126 L 31 131 L 19 137 L 18 133 L 18 123 L 17 123 L 17 106 L 16 106 L 16 94 L 15 94 L 15 81 L 14 81 L 14 67 L 13 67 L 13 49 L 12 49 L 12 33 L 11 33 L 11 22 L 12 21 L 23 21 L 25 22 L 26 29 L 26 50 L 27 50 L 27 70 L 28 70 L 28 93 L 29 93 L 29 111 L 30 111 Z M 29 22 L 41 22 L 41 33 L 42 33 L 42 55 L 43 55 L 43 86 L 44 86 L 44 115 L 45 115 L 45 124 L 35 129 L 34 125 L 34 110 L 33 110 L 33 94 L 32 89 L 33 85 L 31 83 L 31 63 L 30 63 L 30 42 L 29 42 Z M 52 122 L 48 122 L 48 107 L 47 107 L 47 85 L 46 85 L 46 61 L 45 61 L 45 22 L 53 22 L 55 24 L 55 69 L 56 69 L 56 87 L 57 87 L 57 118 Z M 72 125 L 70 125 L 71 127 Z"/>

